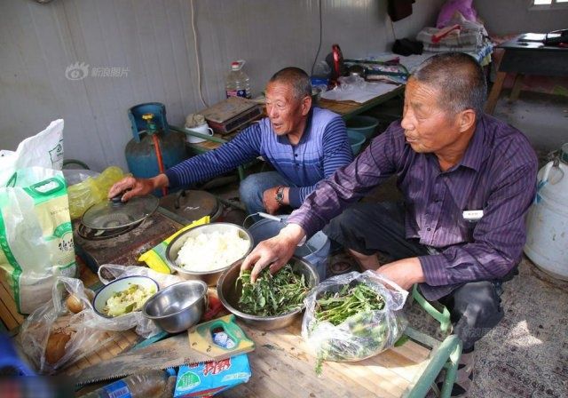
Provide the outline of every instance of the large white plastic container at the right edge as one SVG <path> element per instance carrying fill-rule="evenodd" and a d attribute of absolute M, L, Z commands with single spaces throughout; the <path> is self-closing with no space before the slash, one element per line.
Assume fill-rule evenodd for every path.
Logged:
<path fill-rule="evenodd" d="M 526 227 L 525 254 L 549 275 L 568 280 L 568 144 L 540 169 Z"/>

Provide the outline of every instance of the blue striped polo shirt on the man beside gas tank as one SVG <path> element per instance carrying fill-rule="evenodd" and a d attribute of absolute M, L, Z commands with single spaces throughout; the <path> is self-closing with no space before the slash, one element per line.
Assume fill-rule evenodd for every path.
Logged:
<path fill-rule="evenodd" d="M 294 208 L 304 202 L 321 179 L 353 159 L 341 116 L 313 107 L 296 145 L 290 144 L 288 136 L 276 135 L 266 117 L 221 147 L 173 166 L 166 175 L 170 187 L 189 185 L 234 170 L 257 156 L 263 156 L 293 184 L 288 197 Z"/>

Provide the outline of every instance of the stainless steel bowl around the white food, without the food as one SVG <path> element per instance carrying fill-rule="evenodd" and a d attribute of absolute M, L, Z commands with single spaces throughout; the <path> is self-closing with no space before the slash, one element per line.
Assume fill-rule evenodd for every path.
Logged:
<path fill-rule="evenodd" d="M 217 280 L 219 276 L 223 274 L 225 269 L 231 267 L 231 264 L 228 264 L 226 267 L 218 268 L 215 271 L 206 271 L 206 272 L 195 272 L 195 271 L 188 271 L 185 268 L 178 267 L 176 265 L 177 253 L 184 245 L 185 241 L 189 237 L 196 237 L 200 234 L 210 234 L 212 232 L 226 232 L 227 230 L 236 230 L 237 233 L 243 239 L 248 240 L 248 250 L 242 256 L 241 259 L 247 257 L 248 253 L 252 251 L 253 248 L 253 239 L 252 235 L 248 233 L 248 231 L 236 224 L 231 224 L 228 222 L 216 222 L 213 224 L 205 224 L 199 227 L 194 227 L 192 229 L 188 229 L 187 231 L 177 235 L 171 242 L 168 244 L 168 248 L 166 249 L 166 259 L 168 260 L 170 267 L 177 272 L 182 279 L 196 279 L 207 283 L 209 286 L 215 286 L 217 284 Z M 240 259 L 240 260 L 241 260 Z"/>

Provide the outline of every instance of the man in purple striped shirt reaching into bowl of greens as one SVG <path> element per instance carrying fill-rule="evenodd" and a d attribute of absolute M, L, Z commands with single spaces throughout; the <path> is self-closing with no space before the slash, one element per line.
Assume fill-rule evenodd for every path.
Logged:
<path fill-rule="evenodd" d="M 406 84 L 401 122 L 335 171 L 242 264 L 278 270 L 324 229 L 359 264 L 450 311 L 463 354 L 453 396 L 467 394 L 474 343 L 503 317 L 501 283 L 517 273 L 537 159 L 525 136 L 485 115 L 485 76 L 461 52 L 425 60 Z M 392 175 L 404 203 L 357 203 Z M 346 210 L 344 210 L 346 209 Z M 342 212 L 343 211 L 343 212 Z M 377 251 L 394 261 L 380 264 Z"/>

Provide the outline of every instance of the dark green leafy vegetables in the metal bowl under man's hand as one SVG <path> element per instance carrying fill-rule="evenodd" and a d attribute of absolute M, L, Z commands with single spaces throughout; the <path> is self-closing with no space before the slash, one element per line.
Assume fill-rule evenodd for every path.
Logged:
<path fill-rule="evenodd" d="M 250 282 L 250 271 L 243 271 L 236 283 L 239 282 L 242 283 L 239 309 L 256 316 L 276 316 L 301 308 L 310 291 L 304 275 L 294 273 L 289 264 L 275 275 L 265 268 L 256 283 Z"/>

